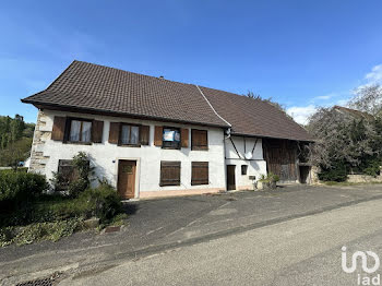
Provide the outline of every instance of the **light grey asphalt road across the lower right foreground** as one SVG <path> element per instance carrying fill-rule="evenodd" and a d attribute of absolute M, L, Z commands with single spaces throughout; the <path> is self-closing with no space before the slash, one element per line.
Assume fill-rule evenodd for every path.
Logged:
<path fill-rule="evenodd" d="M 343 272 L 342 247 L 382 258 L 382 200 L 318 213 L 244 233 L 110 262 L 63 285 L 357 285 Z M 370 261 L 369 261 L 370 263 Z M 372 263 L 371 263 L 372 264 Z M 381 274 L 378 270 L 367 276 Z"/>

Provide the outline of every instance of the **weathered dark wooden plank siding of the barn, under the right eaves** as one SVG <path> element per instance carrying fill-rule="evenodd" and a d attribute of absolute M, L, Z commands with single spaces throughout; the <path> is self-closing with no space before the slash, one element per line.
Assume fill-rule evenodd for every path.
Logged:
<path fill-rule="evenodd" d="M 282 181 L 296 181 L 297 145 L 288 140 L 264 140 L 264 158 L 268 172 L 279 176 Z"/>

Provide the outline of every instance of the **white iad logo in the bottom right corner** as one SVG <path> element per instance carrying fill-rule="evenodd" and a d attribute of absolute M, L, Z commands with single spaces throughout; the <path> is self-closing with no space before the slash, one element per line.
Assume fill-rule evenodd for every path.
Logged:
<path fill-rule="evenodd" d="M 342 266 L 343 266 L 343 271 L 345 271 L 346 273 L 353 273 L 356 271 L 358 258 L 360 258 L 361 267 L 363 272 L 368 274 L 374 273 L 380 267 L 380 258 L 377 255 L 377 253 L 372 251 L 366 251 L 366 253 L 363 251 L 356 251 L 355 253 L 353 253 L 351 265 L 350 267 L 348 267 L 346 247 L 343 247 L 342 251 L 343 251 Z M 368 255 L 374 260 L 374 265 L 372 267 L 368 267 Z M 378 274 L 377 276 L 369 277 L 368 275 L 358 274 L 357 282 L 358 282 L 358 285 L 381 285 L 381 275 Z"/>

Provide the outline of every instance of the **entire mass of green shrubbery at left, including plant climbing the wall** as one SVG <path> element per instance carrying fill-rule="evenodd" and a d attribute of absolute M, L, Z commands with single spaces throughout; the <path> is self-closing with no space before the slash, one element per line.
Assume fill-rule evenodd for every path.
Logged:
<path fill-rule="evenodd" d="M 74 157 L 77 160 L 84 158 L 85 154 Z M 85 169 L 88 175 L 91 168 Z M 122 221 L 126 216 L 116 189 L 106 181 L 102 181 L 97 188 L 89 188 L 89 180 L 84 178 L 82 170 L 76 169 L 81 175 L 76 179 L 86 183 L 71 184 L 81 188 L 71 187 L 69 195 L 60 192 L 47 194 L 49 184 L 41 175 L 1 171 L 0 247 L 43 239 L 56 241 L 83 229 L 84 222 L 93 217 L 99 218 L 102 226 L 110 223 L 121 224 L 117 221 Z"/>

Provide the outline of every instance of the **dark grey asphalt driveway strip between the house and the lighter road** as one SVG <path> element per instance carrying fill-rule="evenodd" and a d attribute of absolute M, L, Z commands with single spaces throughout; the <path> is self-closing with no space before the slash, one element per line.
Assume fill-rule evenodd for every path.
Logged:
<path fill-rule="evenodd" d="M 121 231 L 80 233 L 58 242 L 0 249 L 0 279 L 20 281 L 95 262 L 138 259 L 377 199 L 382 199 L 382 184 L 289 186 L 276 191 L 129 202 L 128 226 Z"/>

